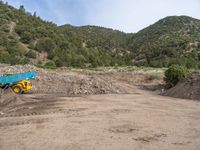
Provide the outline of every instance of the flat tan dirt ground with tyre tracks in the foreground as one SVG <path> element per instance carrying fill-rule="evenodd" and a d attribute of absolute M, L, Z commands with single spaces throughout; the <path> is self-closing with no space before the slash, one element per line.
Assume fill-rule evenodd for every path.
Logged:
<path fill-rule="evenodd" d="M 200 103 L 133 94 L 24 95 L 0 115 L 0 150 L 199 150 Z"/>

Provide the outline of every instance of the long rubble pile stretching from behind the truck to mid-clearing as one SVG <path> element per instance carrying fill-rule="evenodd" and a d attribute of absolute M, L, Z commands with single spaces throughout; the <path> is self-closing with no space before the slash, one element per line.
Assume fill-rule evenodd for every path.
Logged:
<path fill-rule="evenodd" d="M 34 93 L 88 95 L 127 93 L 124 87 L 100 75 L 84 74 L 71 70 L 45 70 L 31 65 L 16 65 L 0 68 L 1 72 L 19 73 L 35 70 L 37 78 L 32 80 Z"/>

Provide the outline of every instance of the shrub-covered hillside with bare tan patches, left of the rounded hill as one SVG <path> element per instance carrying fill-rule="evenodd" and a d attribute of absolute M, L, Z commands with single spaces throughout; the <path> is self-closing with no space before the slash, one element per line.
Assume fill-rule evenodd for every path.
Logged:
<path fill-rule="evenodd" d="M 46 22 L 0 4 L 0 62 L 51 66 L 130 65 L 126 34 L 95 26 L 73 27 Z"/>

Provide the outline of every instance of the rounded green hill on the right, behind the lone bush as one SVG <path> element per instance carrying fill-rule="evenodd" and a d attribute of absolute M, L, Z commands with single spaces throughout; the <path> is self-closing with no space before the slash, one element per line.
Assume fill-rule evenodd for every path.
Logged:
<path fill-rule="evenodd" d="M 134 34 L 128 41 L 134 64 L 200 67 L 200 20 L 172 16 Z"/>

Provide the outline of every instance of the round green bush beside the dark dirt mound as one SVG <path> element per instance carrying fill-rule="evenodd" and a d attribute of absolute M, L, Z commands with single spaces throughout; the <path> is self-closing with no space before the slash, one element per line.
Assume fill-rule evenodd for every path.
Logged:
<path fill-rule="evenodd" d="M 165 82 L 170 86 L 175 86 L 180 80 L 189 74 L 189 70 L 184 66 L 172 65 L 165 71 Z"/>

